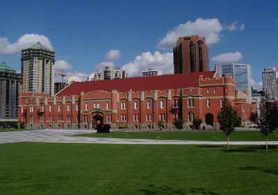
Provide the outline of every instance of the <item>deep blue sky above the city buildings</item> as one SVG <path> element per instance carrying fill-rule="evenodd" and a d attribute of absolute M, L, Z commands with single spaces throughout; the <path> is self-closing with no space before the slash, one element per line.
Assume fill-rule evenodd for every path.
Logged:
<path fill-rule="evenodd" d="M 3 1 L 0 61 L 20 69 L 19 50 L 5 51 L 7 42 L 16 44 L 22 35 L 36 34 L 49 39 L 56 60 L 70 64 L 72 68 L 65 71 L 71 73 L 95 71 L 95 66 L 109 61 L 106 53 L 111 49 L 119 53 L 110 61 L 134 75 L 141 69 L 160 66 L 169 73 L 172 50 L 165 50 L 160 42 L 171 33 L 186 34 L 189 29 L 218 37 L 209 45 L 211 69 L 213 57 L 230 53 L 224 58 L 252 65 L 252 76 L 259 82 L 263 67 L 278 65 L 277 7 L 277 1 L 243 0 Z M 197 19 L 203 23 L 197 24 Z M 212 22 L 209 29 L 198 26 L 208 21 Z M 215 22 L 220 26 L 215 27 Z M 183 27 L 177 29 L 179 25 Z M 217 27 L 222 29 L 216 31 Z M 138 68 L 140 65 L 143 67 Z"/>

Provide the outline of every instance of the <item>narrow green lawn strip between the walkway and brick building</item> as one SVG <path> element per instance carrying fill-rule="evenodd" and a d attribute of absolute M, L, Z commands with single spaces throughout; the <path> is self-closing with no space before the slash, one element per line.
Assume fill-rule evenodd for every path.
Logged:
<path fill-rule="evenodd" d="M 181 139 L 181 140 L 226 140 L 224 133 L 220 130 L 213 131 L 183 131 L 183 132 L 113 132 L 113 133 L 89 133 L 76 135 L 81 137 L 115 137 L 133 139 Z M 231 141 L 260 141 L 265 137 L 260 131 L 235 131 L 231 134 Z M 278 131 L 269 135 L 269 140 L 278 140 Z"/>

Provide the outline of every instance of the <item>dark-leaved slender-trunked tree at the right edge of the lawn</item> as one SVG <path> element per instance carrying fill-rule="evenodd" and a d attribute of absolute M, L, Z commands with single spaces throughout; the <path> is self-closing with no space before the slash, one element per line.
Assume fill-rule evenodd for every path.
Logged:
<path fill-rule="evenodd" d="M 252 113 L 250 120 L 256 124 L 265 135 L 265 150 L 268 150 L 268 134 L 278 128 L 278 105 L 261 99 L 259 113 Z"/>

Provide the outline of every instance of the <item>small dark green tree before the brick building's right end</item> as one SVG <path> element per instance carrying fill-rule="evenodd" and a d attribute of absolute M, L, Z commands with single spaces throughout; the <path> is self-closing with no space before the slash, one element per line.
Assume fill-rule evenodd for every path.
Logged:
<path fill-rule="evenodd" d="M 227 146 L 229 149 L 229 137 L 234 132 L 237 126 L 241 125 L 241 119 L 234 111 L 233 107 L 224 101 L 224 104 L 218 113 L 218 121 L 220 129 L 224 131 L 227 137 Z"/>

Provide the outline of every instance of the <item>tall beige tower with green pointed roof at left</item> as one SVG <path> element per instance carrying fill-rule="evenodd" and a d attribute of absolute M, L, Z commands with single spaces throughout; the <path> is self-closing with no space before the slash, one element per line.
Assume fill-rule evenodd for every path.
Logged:
<path fill-rule="evenodd" d="M 22 90 L 54 95 L 54 51 L 37 42 L 22 50 Z"/>

